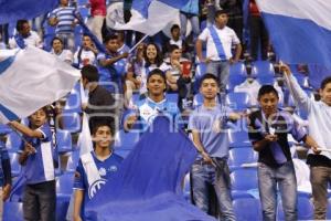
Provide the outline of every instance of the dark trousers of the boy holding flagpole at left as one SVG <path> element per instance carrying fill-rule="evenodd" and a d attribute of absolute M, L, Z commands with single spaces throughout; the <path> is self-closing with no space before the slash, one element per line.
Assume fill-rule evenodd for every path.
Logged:
<path fill-rule="evenodd" d="M 25 221 L 55 221 L 55 180 L 26 185 L 23 196 Z"/>

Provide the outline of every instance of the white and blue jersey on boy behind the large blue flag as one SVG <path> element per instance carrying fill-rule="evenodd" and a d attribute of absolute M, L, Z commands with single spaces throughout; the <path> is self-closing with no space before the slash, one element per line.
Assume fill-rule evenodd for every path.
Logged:
<path fill-rule="evenodd" d="M 147 97 L 139 101 L 137 103 L 137 109 L 131 112 L 132 114 L 134 112 L 136 112 L 139 115 L 139 119 L 136 125 L 138 125 L 140 131 L 146 131 L 152 125 L 154 118 L 158 115 L 167 116 L 172 124 L 172 128 L 175 128 L 174 124 L 177 123 L 177 120 L 180 120 L 180 112 L 177 104 L 169 102 L 166 98 L 157 103 Z M 127 116 L 130 115 L 131 114 L 128 114 Z"/>

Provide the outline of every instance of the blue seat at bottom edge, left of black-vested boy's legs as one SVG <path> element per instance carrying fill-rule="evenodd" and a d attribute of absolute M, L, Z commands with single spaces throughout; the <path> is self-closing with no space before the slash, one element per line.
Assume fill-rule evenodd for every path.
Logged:
<path fill-rule="evenodd" d="M 239 198 L 233 201 L 233 209 L 236 220 L 253 221 L 263 220 L 261 206 L 258 199 Z"/>

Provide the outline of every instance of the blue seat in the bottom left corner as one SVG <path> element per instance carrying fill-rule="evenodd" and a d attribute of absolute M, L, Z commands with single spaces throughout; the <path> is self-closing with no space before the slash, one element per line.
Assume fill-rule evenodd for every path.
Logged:
<path fill-rule="evenodd" d="M 23 203 L 6 201 L 2 219 L 3 221 L 23 221 Z"/>

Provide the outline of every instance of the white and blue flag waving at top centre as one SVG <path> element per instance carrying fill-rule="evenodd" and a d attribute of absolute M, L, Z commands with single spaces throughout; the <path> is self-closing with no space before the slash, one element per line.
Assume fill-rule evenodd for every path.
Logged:
<path fill-rule="evenodd" d="M 116 23 L 116 30 L 135 30 L 148 35 L 161 31 L 170 21 L 179 17 L 179 9 L 189 0 L 134 0 L 131 19 L 126 24 Z"/>

